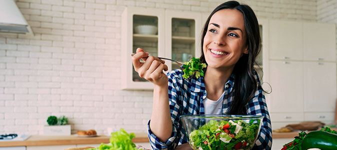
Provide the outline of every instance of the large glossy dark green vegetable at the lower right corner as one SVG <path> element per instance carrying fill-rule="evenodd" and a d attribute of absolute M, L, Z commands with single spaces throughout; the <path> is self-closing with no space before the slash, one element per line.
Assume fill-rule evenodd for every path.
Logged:
<path fill-rule="evenodd" d="M 324 150 L 337 149 L 337 134 L 322 130 L 311 131 L 306 134 L 302 143 L 302 149 L 319 148 Z"/>

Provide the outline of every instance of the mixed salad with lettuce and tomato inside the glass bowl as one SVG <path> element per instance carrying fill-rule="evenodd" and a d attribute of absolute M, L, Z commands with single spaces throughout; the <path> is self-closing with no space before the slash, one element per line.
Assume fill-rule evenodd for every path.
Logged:
<path fill-rule="evenodd" d="M 254 145 L 259 120 L 210 120 L 189 134 L 193 149 L 249 149 Z"/>

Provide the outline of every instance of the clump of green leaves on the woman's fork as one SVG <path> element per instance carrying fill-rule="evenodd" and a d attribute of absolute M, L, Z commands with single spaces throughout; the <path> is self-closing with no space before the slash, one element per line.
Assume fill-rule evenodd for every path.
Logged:
<path fill-rule="evenodd" d="M 195 73 L 195 77 L 198 78 L 200 75 L 203 76 L 203 70 L 202 68 L 206 67 L 205 63 L 200 63 L 199 58 L 192 58 L 188 62 L 183 62 L 182 67 L 183 69 L 183 75 L 182 77 L 188 78 L 189 76 L 193 75 Z"/>

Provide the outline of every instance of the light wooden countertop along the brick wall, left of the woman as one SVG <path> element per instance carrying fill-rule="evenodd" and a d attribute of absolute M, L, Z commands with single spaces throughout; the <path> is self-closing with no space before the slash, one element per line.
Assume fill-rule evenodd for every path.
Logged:
<path fill-rule="evenodd" d="M 76 134 L 63 136 L 32 135 L 21 141 L 0 141 L 0 147 L 9 146 L 42 146 L 42 145 L 68 145 L 68 144 L 99 144 L 108 143 L 110 136 L 98 135 L 96 137 L 78 137 Z M 149 142 L 147 133 L 135 133 L 132 142 Z"/>

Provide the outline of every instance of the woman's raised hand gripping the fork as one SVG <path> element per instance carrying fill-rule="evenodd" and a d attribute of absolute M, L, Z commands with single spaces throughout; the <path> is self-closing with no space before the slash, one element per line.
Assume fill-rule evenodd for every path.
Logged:
<path fill-rule="evenodd" d="M 134 70 L 138 72 L 139 76 L 152 82 L 154 85 L 167 86 L 167 76 L 163 70 L 167 71 L 167 65 L 165 61 L 154 57 L 148 56 L 148 52 L 145 52 L 141 48 L 137 48 L 136 54 L 132 56 L 132 63 Z M 143 59 L 145 62 L 140 62 Z"/>

